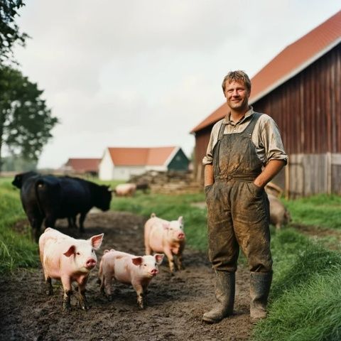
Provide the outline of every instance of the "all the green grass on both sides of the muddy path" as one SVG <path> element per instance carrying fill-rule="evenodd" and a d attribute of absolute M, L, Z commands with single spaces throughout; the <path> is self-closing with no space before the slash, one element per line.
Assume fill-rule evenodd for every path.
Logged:
<path fill-rule="evenodd" d="M 115 184 L 113 183 L 112 186 Z M 23 222 L 18 190 L 11 179 L 0 178 L 0 274 L 38 264 L 38 247 L 31 242 Z M 113 197 L 112 210 L 134 212 L 149 217 L 152 212 L 167 220 L 180 215 L 185 220 L 188 244 L 206 251 L 206 209 L 203 194 L 155 195 L 136 193 L 135 197 Z M 254 328 L 253 340 L 341 340 L 341 254 L 340 243 L 328 249 L 324 240 L 306 237 L 296 225 L 307 229 L 339 232 L 341 197 L 317 195 L 284 201 L 293 217 L 292 226 L 276 231 L 271 227 L 274 283 L 269 298 L 269 317 Z M 194 205 L 193 205 L 194 204 Z"/>

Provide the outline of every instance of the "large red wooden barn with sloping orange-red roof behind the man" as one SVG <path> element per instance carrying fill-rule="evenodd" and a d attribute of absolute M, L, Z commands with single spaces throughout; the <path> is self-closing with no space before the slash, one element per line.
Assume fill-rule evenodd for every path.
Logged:
<path fill-rule="evenodd" d="M 249 103 L 281 130 L 289 162 L 274 182 L 287 197 L 341 194 L 341 11 L 254 75 Z M 225 102 L 190 131 L 197 177 L 212 126 L 228 112 Z"/>

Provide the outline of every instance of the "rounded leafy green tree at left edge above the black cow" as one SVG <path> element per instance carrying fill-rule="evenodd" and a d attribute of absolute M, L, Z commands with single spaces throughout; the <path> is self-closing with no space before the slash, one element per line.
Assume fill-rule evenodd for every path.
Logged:
<path fill-rule="evenodd" d="M 41 98 L 43 90 L 19 70 L 0 67 L 0 170 L 4 145 L 12 155 L 37 161 L 58 119 Z"/>

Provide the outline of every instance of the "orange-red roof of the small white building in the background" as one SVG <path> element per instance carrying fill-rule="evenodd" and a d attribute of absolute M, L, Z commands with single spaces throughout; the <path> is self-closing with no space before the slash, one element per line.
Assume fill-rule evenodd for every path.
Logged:
<path fill-rule="evenodd" d="M 178 147 L 108 149 L 115 166 L 164 166 Z"/>

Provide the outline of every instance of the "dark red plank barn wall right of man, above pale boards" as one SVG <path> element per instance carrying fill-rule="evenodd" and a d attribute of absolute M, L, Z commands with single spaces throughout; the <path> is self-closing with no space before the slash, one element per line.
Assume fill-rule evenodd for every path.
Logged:
<path fill-rule="evenodd" d="M 341 153 L 341 44 L 252 105 L 274 118 L 287 153 Z"/>

